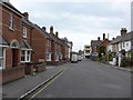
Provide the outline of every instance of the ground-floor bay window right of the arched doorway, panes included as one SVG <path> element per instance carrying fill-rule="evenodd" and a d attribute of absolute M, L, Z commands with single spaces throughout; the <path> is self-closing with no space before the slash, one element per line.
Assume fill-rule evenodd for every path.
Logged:
<path fill-rule="evenodd" d="M 31 61 L 31 51 L 22 50 L 21 62 L 30 62 L 30 61 Z"/>

